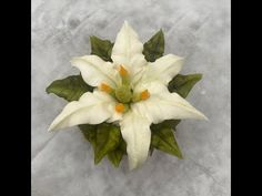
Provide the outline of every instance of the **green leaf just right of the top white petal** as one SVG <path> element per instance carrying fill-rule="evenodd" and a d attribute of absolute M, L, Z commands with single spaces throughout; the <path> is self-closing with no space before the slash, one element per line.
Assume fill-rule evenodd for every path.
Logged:
<path fill-rule="evenodd" d="M 164 53 L 164 34 L 160 30 L 143 44 L 143 54 L 147 61 L 154 62 Z"/>

